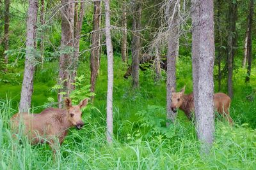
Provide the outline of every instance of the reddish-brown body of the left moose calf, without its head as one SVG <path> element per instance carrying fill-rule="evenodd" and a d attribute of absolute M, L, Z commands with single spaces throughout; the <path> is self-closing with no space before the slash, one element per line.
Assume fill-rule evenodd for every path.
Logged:
<path fill-rule="evenodd" d="M 64 120 L 65 115 L 65 110 L 57 108 L 48 108 L 38 114 L 17 113 L 12 117 L 13 130 L 17 131 L 15 128 L 24 124 L 23 133 L 28 135 L 33 144 L 43 143 L 44 139 L 49 141 L 54 137 L 62 141 L 70 127 L 70 123 Z"/>

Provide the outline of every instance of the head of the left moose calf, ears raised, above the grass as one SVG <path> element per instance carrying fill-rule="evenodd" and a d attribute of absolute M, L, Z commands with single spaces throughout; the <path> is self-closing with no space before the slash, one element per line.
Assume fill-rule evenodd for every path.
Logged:
<path fill-rule="evenodd" d="M 72 101 L 70 98 L 65 98 L 65 106 L 67 108 L 67 118 L 68 121 L 77 127 L 77 129 L 81 129 L 84 125 L 82 120 L 82 111 L 88 103 L 88 99 L 83 99 L 78 105 L 72 106 Z"/>

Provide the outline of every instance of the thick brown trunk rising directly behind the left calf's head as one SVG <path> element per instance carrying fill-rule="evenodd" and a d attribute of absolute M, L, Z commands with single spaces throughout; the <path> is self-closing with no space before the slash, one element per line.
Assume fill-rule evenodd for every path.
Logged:
<path fill-rule="evenodd" d="M 74 0 L 61 0 L 61 50 L 68 52 L 61 53 L 59 64 L 59 83 L 63 88 L 58 91 L 59 108 L 62 108 L 63 94 L 69 96 L 72 82 L 72 55 L 70 48 L 74 47 Z"/>

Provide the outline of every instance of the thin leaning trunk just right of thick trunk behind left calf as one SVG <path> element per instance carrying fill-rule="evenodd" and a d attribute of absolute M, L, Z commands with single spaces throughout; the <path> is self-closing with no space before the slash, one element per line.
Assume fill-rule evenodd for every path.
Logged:
<path fill-rule="evenodd" d="M 75 17 L 74 17 L 74 58 L 72 60 L 72 78 L 71 82 L 75 82 L 77 67 L 78 67 L 78 60 L 79 60 L 79 46 L 80 46 L 80 37 L 81 37 L 81 30 L 83 26 L 83 18 L 84 18 L 84 10 L 85 10 L 85 3 L 80 3 L 80 10 L 79 15 L 77 11 L 78 3 L 75 4 Z M 71 85 L 71 90 L 74 90 L 75 86 Z"/>

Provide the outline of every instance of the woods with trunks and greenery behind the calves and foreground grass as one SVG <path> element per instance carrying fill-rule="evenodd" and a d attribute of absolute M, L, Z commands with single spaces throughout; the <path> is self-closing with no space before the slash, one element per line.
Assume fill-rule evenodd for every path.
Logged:
<path fill-rule="evenodd" d="M 8 117 L 90 97 L 86 118 L 106 126 L 108 143 L 170 140 L 184 124 L 208 154 L 222 128 L 214 125 L 213 94 L 225 92 L 234 128 L 256 127 L 254 0 L 0 4 L 1 113 Z M 184 85 L 195 97 L 192 122 L 170 107 L 172 87 Z"/>

